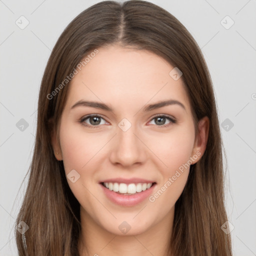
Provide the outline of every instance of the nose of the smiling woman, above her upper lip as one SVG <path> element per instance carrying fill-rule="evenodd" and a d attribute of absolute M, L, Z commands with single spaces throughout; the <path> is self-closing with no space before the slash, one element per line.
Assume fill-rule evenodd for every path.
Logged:
<path fill-rule="evenodd" d="M 147 157 L 146 146 L 134 126 L 131 125 L 126 131 L 117 127 L 117 134 L 113 138 L 110 153 L 110 161 L 113 164 L 130 167 L 145 162 Z"/>

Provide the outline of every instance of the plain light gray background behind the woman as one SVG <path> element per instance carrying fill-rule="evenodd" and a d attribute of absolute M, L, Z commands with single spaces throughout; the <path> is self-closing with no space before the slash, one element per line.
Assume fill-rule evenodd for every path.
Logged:
<path fill-rule="evenodd" d="M 25 186 L 18 189 L 31 161 L 46 61 L 66 25 L 96 2 L 0 0 L 0 255 L 17 255 L 14 219 Z M 256 0 L 151 2 L 179 19 L 202 49 L 227 155 L 225 191 L 234 227 L 233 252 L 256 255 Z M 29 24 L 21 29 L 26 20 Z"/>

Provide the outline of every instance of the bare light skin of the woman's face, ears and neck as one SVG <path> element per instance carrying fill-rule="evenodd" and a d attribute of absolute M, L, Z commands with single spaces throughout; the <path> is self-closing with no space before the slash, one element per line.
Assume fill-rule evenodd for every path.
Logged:
<path fill-rule="evenodd" d="M 182 164 L 193 164 L 203 155 L 209 119 L 194 124 L 182 76 L 174 80 L 173 69 L 161 57 L 144 50 L 109 46 L 99 52 L 73 77 L 60 121 L 59 139 L 52 134 L 55 157 L 63 160 L 66 175 L 75 169 L 80 177 L 68 184 L 80 203 L 80 256 L 164 256 L 172 231 L 174 204 L 187 181 L 189 167 L 176 175 Z M 143 111 L 148 104 L 173 99 L 183 104 Z M 112 111 L 76 106 L 79 100 L 104 103 Z M 98 124 L 89 114 L 100 115 Z M 156 114 L 167 117 L 155 118 Z M 118 123 L 126 118 L 131 126 L 123 131 Z M 125 125 L 128 125 L 125 123 Z M 165 127 L 163 127 L 165 125 Z M 58 154 L 57 154 L 58 152 Z M 190 160 L 190 161 L 189 161 Z M 154 180 L 152 196 L 134 206 L 121 206 L 102 192 L 99 180 L 139 177 Z M 127 195 L 128 196 L 128 195 Z M 153 200 L 154 198 L 154 200 Z M 118 227 L 126 221 L 130 229 Z"/>

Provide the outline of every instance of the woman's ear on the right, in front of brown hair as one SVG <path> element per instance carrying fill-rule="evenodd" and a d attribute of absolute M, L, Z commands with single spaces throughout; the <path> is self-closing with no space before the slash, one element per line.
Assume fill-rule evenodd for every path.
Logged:
<path fill-rule="evenodd" d="M 196 163 L 202 157 L 206 149 L 208 135 L 209 135 L 209 123 L 210 122 L 209 122 L 208 116 L 204 116 L 198 122 L 198 133 L 196 134 L 196 137 L 194 140 L 194 146 L 193 146 L 192 155 L 190 158 L 192 160 L 192 164 Z M 197 156 L 196 159 L 194 155 Z"/>

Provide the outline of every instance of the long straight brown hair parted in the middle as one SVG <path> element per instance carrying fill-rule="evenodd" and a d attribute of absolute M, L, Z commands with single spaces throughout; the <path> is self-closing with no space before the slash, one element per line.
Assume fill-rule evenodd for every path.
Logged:
<path fill-rule="evenodd" d="M 68 186 L 63 162 L 54 156 L 51 132 L 58 130 L 66 101 L 68 82 L 63 81 L 86 54 L 110 44 L 149 50 L 178 67 L 196 132 L 199 119 L 210 120 L 206 150 L 190 166 L 175 203 L 168 255 L 232 255 L 230 235 L 220 228 L 227 220 L 222 142 L 209 71 L 187 29 L 166 10 L 140 0 L 90 6 L 69 23 L 51 52 L 40 86 L 28 184 L 16 219 L 16 224 L 24 221 L 29 227 L 23 234 L 15 232 L 19 255 L 78 255 L 80 205 Z"/>

